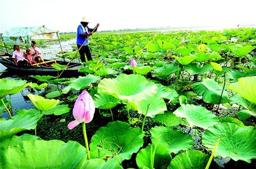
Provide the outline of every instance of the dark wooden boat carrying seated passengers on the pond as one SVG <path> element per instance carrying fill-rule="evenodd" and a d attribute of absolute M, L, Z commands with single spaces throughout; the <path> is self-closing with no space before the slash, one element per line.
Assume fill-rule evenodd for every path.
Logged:
<path fill-rule="evenodd" d="M 10 56 L 9 53 L 7 53 Z M 58 71 L 52 68 L 52 63 L 58 63 L 59 65 L 67 65 L 67 62 L 61 62 L 59 60 L 44 60 L 44 63 L 37 63 L 34 66 L 25 65 L 17 66 L 11 57 L 0 57 L 0 63 L 6 66 L 7 70 L 11 73 L 19 75 L 51 75 L 58 76 L 61 71 Z M 47 65 L 46 65 L 47 64 Z M 81 73 L 78 72 L 81 67 L 80 63 L 70 63 L 66 70 L 62 73 L 61 76 L 79 76 Z"/>

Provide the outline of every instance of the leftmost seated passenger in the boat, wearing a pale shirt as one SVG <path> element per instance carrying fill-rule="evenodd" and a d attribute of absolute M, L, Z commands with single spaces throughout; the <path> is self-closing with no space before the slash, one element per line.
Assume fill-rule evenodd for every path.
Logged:
<path fill-rule="evenodd" d="M 21 50 L 19 45 L 13 45 L 14 52 L 12 53 L 12 60 L 18 66 L 27 65 L 27 60 L 25 58 L 25 50 Z"/>

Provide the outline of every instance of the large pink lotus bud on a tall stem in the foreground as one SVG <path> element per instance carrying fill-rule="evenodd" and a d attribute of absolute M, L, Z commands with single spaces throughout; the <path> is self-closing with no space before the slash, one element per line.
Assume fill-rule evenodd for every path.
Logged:
<path fill-rule="evenodd" d="M 95 112 L 95 105 L 92 96 L 87 91 L 82 91 L 77 98 L 73 108 L 73 116 L 76 121 L 69 122 L 69 130 L 74 129 L 79 123 L 92 121 Z"/>

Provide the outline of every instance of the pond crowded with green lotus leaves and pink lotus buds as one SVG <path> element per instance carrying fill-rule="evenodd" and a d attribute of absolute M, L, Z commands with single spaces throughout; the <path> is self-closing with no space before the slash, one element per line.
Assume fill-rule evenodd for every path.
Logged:
<path fill-rule="evenodd" d="M 256 168 L 256 29 L 90 47 L 84 76 L 0 79 L 0 168 Z M 20 92 L 30 109 L 12 105 Z"/>

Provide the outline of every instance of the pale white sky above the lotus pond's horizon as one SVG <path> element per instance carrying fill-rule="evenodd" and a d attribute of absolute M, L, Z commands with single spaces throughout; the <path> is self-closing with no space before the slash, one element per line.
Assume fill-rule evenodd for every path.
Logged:
<path fill-rule="evenodd" d="M 256 0 L 0 0 L 0 32 L 46 25 L 76 32 L 82 16 L 98 30 L 256 25 Z"/>

